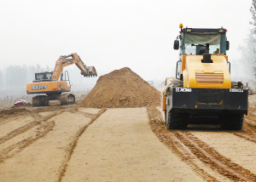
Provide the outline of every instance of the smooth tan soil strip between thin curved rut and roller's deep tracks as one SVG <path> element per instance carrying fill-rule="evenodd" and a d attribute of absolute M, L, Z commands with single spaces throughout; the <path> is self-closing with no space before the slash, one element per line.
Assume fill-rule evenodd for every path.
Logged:
<path fill-rule="evenodd" d="M 109 109 L 80 137 L 62 181 L 202 179 L 155 137 L 146 108 Z"/>

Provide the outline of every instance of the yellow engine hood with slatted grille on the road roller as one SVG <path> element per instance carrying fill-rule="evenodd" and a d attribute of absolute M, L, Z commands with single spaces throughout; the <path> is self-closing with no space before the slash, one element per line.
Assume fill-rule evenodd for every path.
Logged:
<path fill-rule="evenodd" d="M 227 56 L 212 54 L 212 63 L 202 63 L 203 55 L 183 55 L 184 88 L 231 88 Z"/>

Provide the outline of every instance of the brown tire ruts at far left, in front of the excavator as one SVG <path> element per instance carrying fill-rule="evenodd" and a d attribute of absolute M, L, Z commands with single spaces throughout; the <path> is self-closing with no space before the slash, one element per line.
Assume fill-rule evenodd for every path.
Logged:
<path fill-rule="evenodd" d="M 32 129 L 32 128 L 38 126 L 37 132 L 34 135 L 29 136 L 26 139 L 22 139 L 21 141 L 15 143 L 15 144 L 8 145 L 5 148 L 3 148 L 3 150 L 0 151 L 0 163 L 12 156 L 15 156 L 20 151 L 22 151 L 24 148 L 26 148 L 26 146 L 31 145 L 36 140 L 44 137 L 45 134 L 48 134 L 49 131 L 51 131 L 52 128 L 54 128 L 54 126 L 55 126 L 54 121 L 48 122 L 48 120 L 51 117 L 60 115 L 61 112 L 62 111 L 55 111 L 54 113 L 50 114 L 47 117 L 42 117 L 38 113 L 36 113 L 32 116 L 36 119 L 36 121 L 30 122 L 20 128 L 16 128 L 15 130 L 11 131 L 9 134 L 3 136 L 0 139 L 0 144 L 3 144 L 5 142 L 9 141 L 9 139 L 13 139 L 16 136 L 25 133 L 29 129 Z"/>

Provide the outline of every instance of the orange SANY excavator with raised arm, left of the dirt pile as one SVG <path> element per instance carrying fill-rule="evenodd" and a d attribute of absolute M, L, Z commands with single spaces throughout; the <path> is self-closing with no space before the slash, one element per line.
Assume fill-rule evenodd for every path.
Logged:
<path fill-rule="evenodd" d="M 63 68 L 73 64 L 79 67 L 84 77 L 97 77 L 95 67 L 84 65 L 78 54 L 61 55 L 54 71 L 36 72 L 35 81 L 26 83 L 26 94 L 38 94 L 32 98 L 33 106 L 49 105 L 49 100 L 61 100 L 61 105 L 75 102 L 73 94 L 62 94 L 71 91 L 68 72 L 65 71 L 63 76 Z"/>

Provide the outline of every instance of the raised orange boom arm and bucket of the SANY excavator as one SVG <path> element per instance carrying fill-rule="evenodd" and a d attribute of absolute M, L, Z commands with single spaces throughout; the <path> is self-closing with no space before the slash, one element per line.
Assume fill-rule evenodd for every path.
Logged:
<path fill-rule="evenodd" d="M 59 77 L 61 76 L 61 72 L 63 68 L 73 64 L 79 67 L 79 70 L 81 71 L 81 75 L 83 75 L 84 77 L 97 77 L 95 67 L 84 65 L 84 62 L 80 59 L 79 55 L 76 53 L 73 53 L 69 55 L 60 56 L 60 58 L 55 63 L 55 70 L 52 73 L 51 79 L 58 80 Z"/>

